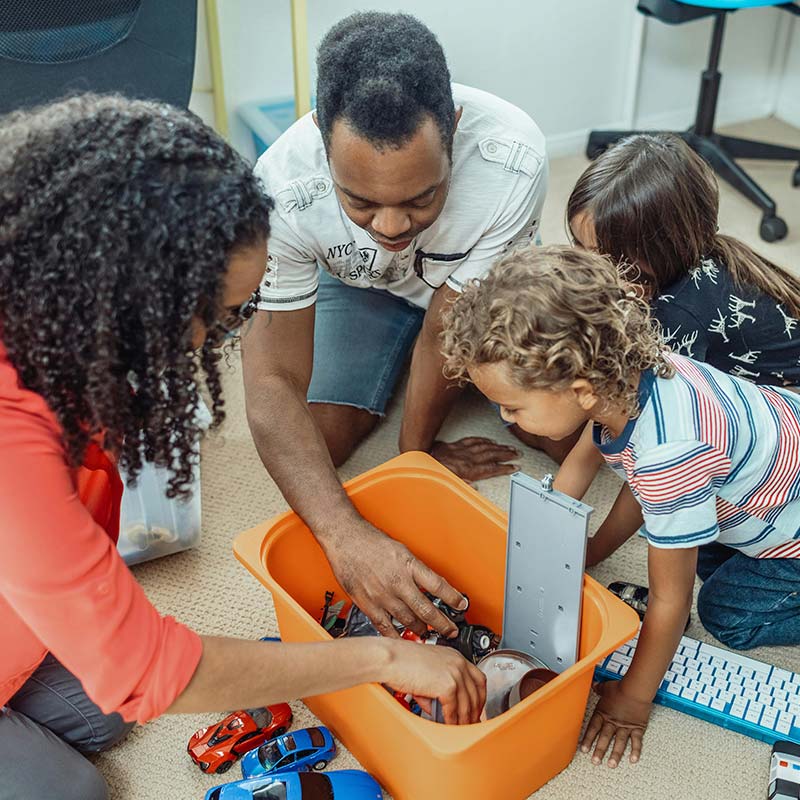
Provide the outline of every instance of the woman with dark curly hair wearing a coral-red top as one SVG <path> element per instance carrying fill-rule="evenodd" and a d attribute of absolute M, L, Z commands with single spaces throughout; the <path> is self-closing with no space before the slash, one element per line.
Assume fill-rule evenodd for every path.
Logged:
<path fill-rule="evenodd" d="M 166 711 L 382 681 L 480 713 L 482 676 L 449 648 L 199 636 L 117 554 L 105 453 L 135 477 L 144 452 L 186 494 L 198 380 L 219 424 L 216 349 L 254 309 L 271 206 L 167 106 L 87 95 L 0 125 L 0 800 L 106 797 L 77 751 Z"/>

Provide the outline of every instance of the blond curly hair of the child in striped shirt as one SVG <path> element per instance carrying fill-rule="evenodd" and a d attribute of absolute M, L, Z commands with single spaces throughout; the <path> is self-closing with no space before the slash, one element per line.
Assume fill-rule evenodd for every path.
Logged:
<path fill-rule="evenodd" d="M 639 414 L 631 377 L 673 368 L 649 309 L 603 256 L 571 247 L 531 247 L 500 258 L 446 311 L 446 374 L 508 364 L 523 389 L 562 391 L 588 380 L 605 402 Z"/>

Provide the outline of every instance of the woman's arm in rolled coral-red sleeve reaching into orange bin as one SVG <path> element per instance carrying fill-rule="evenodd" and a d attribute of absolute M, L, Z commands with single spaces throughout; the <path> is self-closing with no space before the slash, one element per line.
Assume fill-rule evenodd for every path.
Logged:
<path fill-rule="evenodd" d="M 446 647 L 201 639 L 160 615 L 81 504 L 56 427 L 2 409 L 0 520 L 0 595 L 13 609 L 0 605 L 0 685 L 24 674 L 44 645 L 104 712 L 126 720 L 263 705 L 365 681 L 437 697 L 447 721 L 478 719 L 483 674 Z M 27 628 L 6 637 L 3 614 Z"/>

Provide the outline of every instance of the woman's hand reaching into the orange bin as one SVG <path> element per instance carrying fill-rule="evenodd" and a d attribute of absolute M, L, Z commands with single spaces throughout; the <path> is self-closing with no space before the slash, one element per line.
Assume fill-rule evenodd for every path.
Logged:
<path fill-rule="evenodd" d="M 392 659 L 389 686 L 420 699 L 438 699 L 449 725 L 478 721 L 486 704 L 486 676 L 461 653 L 416 642 L 386 644 Z"/>

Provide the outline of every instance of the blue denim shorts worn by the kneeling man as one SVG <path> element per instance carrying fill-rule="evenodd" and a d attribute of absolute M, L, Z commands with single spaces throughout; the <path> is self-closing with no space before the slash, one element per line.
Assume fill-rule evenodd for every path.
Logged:
<path fill-rule="evenodd" d="M 422 327 L 425 309 L 320 270 L 309 403 L 383 416 Z"/>

